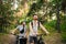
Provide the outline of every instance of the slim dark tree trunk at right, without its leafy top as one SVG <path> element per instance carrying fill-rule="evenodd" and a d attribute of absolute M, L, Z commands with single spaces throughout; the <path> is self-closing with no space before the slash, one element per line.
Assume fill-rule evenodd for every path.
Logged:
<path fill-rule="evenodd" d="M 58 2 L 56 6 L 56 18 L 57 18 L 56 29 L 57 29 L 58 33 L 61 33 L 61 19 L 59 19 L 59 4 L 58 4 Z"/>

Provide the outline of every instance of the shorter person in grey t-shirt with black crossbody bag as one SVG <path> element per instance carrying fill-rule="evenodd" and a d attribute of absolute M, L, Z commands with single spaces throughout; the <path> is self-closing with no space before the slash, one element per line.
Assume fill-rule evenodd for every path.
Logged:
<path fill-rule="evenodd" d="M 12 32 L 14 34 L 15 31 L 19 31 L 19 38 L 20 38 L 20 44 L 26 44 L 26 25 L 25 22 L 21 22 L 21 25 L 18 25 L 16 29 Z"/>

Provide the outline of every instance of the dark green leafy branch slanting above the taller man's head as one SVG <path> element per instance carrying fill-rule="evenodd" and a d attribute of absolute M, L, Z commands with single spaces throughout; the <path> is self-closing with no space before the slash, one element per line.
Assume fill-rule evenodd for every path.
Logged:
<path fill-rule="evenodd" d="M 31 15 L 31 14 L 38 12 L 38 10 L 42 8 L 43 3 L 44 3 L 43 0 L 37 0 L 36 3 L 33 3 L 31 6 L 31 9 L 30 9 L 28 15 Z"/>

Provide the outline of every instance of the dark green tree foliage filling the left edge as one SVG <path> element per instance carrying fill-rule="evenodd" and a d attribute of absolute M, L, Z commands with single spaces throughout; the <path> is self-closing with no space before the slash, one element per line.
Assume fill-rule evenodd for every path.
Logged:
<path fill-rule="evenodd" d="M 3 2 L 4 1 L 4 2 Z M 0 32 L 7 32 L 7 28 L 10 26 L 11 21 L 13 21 L 13 12 L 11 10 L 11 1 L 1 0 L 0 3 Z"/>

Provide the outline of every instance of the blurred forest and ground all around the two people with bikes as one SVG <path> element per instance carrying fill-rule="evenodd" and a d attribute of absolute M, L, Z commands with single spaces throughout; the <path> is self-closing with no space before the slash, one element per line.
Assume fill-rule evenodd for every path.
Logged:
<path fill-rule="evenodd" d="M 0 0 L 0 44 L 9 44 L 10 31 L 23 20 L 29 29 L 33 14 L 51 33 L 46 44 L 66 44 L 66 0 Z"/>

